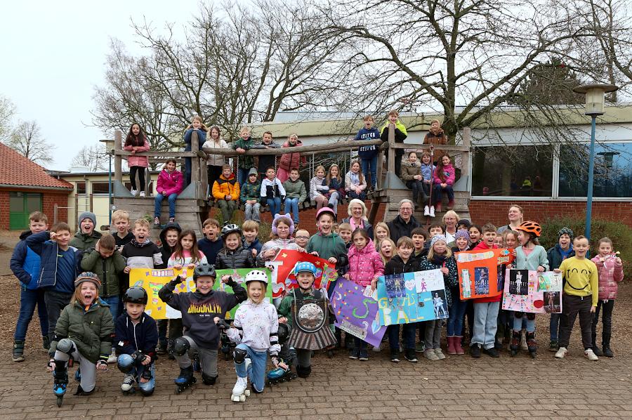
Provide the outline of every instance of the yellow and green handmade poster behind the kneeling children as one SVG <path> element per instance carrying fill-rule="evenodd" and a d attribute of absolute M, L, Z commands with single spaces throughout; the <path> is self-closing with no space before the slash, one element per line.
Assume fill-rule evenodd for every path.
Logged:
<path fill-rule="evenodd" d="M 237 283 L 243 283 L 251 270 L 261 270 L 261 268 L 239 268 L 237 270 L 217 270 L 217 278 L 215 284 L 213 284 L 214 290 L 223 290 L 227 293 L 232 293 L 230 286 L 223 284 L 220 279 L 223 274 L 232 276 L 232 279 Z M 263 269 L 268 273 L 268 281 L 270 281 L 270 270 Z M 148 269 L 148 268 L 132 268 L 129 272 L 129 284 L 133 286 L 140 286 L 147 291 L 147 306 L 145 306 L 145 313 L 154 318 L 154 320 L 165 320 L 173 318 L 181 318 L 182 314 L 179 310 L 171 308 L 171 306 L 164 303 L 161 298 L 158 297 L 158 291 L 162 287 L 171 282 L 176 275 L 181 275 L 186 280 L 176 287 L 174 293 L 181 293 L 187 291 L 195 291 L 195 282 L 193 281 L 193 270 L 183 268 L 181 270 L 175 270 L 173 268 L 163 269 Z M 245 287 L 245 284 L 244 284 Z M 272 288 L 268 287 L 265 296 L 272 298 Z M 227 318 L 232 318 L 235 315 L 235 310 L 239 306 L 233 308 L 230 313 L 226 314 Z"/>

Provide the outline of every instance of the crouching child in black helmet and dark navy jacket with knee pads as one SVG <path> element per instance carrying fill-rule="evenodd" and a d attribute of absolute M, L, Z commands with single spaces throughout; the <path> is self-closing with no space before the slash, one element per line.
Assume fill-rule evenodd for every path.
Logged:
<path fill-rule="evenodd" d="M 156 322 L 145 313 L 147 292 L 143 287 L 130 287 L 123 295 L 125 312 L 117 318 L 115 324 L 117 346 L 117 365 L 125 374 L 121 391 L 124 394 L 134 392 L 134 383 L 138 383 L 140 393 L 152 395 L 156 386 L 154 360 L 158 332 Z"/>

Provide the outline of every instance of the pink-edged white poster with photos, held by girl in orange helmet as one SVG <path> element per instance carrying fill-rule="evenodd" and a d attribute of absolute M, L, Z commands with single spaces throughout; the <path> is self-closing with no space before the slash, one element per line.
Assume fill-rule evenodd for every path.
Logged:
<path fill-rule="evenodd" d="M 562 275 L 530 270 L 506 270 L 503 309 L 525 313 L 562 311 Z M 548 307 L 548 308 L 547 308 Z"/>

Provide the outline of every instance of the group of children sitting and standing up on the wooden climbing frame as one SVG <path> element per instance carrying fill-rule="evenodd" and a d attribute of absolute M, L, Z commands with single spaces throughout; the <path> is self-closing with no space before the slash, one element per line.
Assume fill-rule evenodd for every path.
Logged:
<path fill-rule="evenodd" d="M 374 127 L 374 118 L 364 117 L 364 126 L 358 131 L 355 140 L 388 140 L 389 124 L 395 124 L 395 142 L 403 143 L 407 131 L 396 110 L 388 113 L 388 121 L 380 130 Z M 260 221 L 261 205 L 267 205 L 272 215 L 281 212 L 284 204 L 286 213 L 291 213 L 294 223 L 298 225 L 299 204 L 308 198 L 315 202 L 316 208 L 329 206 L 338 213 L 338 202 L 343 198 L 367 198 L 367 192 L 376 188 L 378 146 L 362 146 L 358 149 L 358 159 L 350 164 L 347 173 L 341 173 L 340 167 L 332 164 L 329 169 L 317 166 L 315 176 L 310 179 L 309 189 L 300 179 L 299 170 L 305 166 L 305 156 L 300 152 L 285 152 L 277 159 L 275 155 L 261 155 L 255 158 L 243 155 L 251 149 L 279 148 L 274 142 L 272 133 L 265 131 L 261 143 L 256 143 L 251 137 L 251 130 L 244 127 L 239 131 L 239 138 L 228 143 L 221 138 L 219 127 L 207 129 L 202 118 L 192 118 L 190 126 L 185 131 L 185 150 L 191 151 L 192 133 L 197 133 L 199 139 L 199 156 L 206 159 L 210 197 L 219 207 L 223 220 L 230 221 L 239 206 L 244 206 L 246 220 Z M 207 140 L 208 138 L 208 140 Z M 445 145 L 447 136 L 437 120 L 430 123 L 430 130 L 423 139 L 424 144 Z M 288 136 L 282 147 L 291 148 L 301 146 L 296 133 Z M 218 149 L 235 150 L 239 156 L 237 173 L 233 173 L 232 166 L 227 164 L 225 156 L 217 154 Z M 131 193 L 136 195 L 140 188 L 140 196 L 145 197 L 145 169 L 149 162 L 143 152 L 149 150 L 149 143 L 139 124 L 132 124 L 126 137 L 124 150 L 131 155 L 128 158 L 130 168 Z M 215 151 L 215 153 L 213 153 Z M 447 209 L 454 207 L 455 172 L 450 158 L 444 151 L 434 149 L 433 154 L 424 152 L 418 159 L 416 152 L 410 152 L 407 159 L 403 159 L 404 150 L 395 152 L 395 173 L 397 173 L 408 188 L 413 191 L 413 201 L 424 205 L 424 215 L 434 217 L 435 211 L 441 211 L 442 195 L 447 195 Z M 403 160 L 403 162 L 402 162 Z M 434 163 L 433 163 L 434 161 Z M 381 162 L 379 162 L 381 163 Z M 191 182 L 191 158 L 185 159 L 185 172 L 176 169 L 176 159 L 167 160 L 164 169 L 159 173 L 154 206 L 154 225 L 160 225 L 162 201 L 169 202 L 169 221 L 175 221 L 176 199 L 180 192 Z M 136 185 L 138 173 L 140 187 Z M 369 183 L 370 181 L 370 188 Z M 428 199 L 432 191 L 432 202 Z"/>

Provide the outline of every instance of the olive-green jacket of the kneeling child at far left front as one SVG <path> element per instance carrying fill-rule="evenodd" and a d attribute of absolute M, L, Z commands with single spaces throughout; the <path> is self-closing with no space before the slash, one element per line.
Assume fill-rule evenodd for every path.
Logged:
<path fill-rule="evenodd" d="M 113 334 L 114 321 L 107 303 L 97 299 L 86 311 L 81 303 L 73 299 L 57 320 L 55 340 L 49 353 L 55 354 L 58 340 L 68 338 L 74 341 L 81 356 L 90 362 L 105 361 L 112 352 Z"/>

